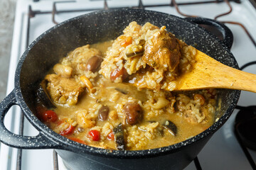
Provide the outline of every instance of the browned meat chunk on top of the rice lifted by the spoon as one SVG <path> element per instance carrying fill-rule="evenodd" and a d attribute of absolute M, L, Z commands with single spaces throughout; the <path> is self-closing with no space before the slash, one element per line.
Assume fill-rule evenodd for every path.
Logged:
<path fill-rule="evenodd" d="M 180 48 L 174 35 L 166 32 L 162 27 L 146 40 L 142 60 L 159 72 L 167 70 L 173 72 L 181 57 Z"/>

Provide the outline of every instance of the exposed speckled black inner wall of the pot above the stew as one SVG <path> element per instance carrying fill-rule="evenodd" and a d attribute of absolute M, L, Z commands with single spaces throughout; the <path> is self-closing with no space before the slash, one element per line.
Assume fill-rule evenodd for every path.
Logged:
<path fill-rule="evenodd" d="M 28 120 L 31 120 L 38 129 L 45 127 L 33 116 L 36 111 L 35 91 L 38 83 L 54 64 L 76 47 L 117 38 L 132 21 L 137 21 L 141 25 L 150 22 L 159 27 L 166 26 L 166 30 L 174 33 L 188 45 L 196 47 L 223 64 L 238 68 L 235 58 L 220 40 L 176 16 L 128 8 L 88 13 L 46 31 L 21 57 L 16 71 L 16 89 L 21 91 L 23 101 L 20 102 L 26 110 Z M 238 97 L 238 91 L 220 90 L 220 102 L 215 117 L 222 118 L 211 127 L 212 131 L 217 130 L 228 119 Z"/>

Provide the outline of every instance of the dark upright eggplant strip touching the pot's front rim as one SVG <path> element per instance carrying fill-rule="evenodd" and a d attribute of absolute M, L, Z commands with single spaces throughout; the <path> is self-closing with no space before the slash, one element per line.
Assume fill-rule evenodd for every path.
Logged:
<path fill-rule="evenodd" d="M 114 128 L 114 141 L 117 145 L 117 150 L 124 150 L 124 129 L 122 128 L 122 123 L 119 123 L 117 127 Z"/>

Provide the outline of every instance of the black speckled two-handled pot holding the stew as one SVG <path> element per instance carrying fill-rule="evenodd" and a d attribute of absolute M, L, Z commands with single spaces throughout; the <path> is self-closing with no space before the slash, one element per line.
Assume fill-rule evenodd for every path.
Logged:
<path fill-rule="evenodd" d="M 142 9 L 112 9 L 97 11 L 72 18 L 43 33 L 29 45 L 18 62 L 15 75 L 15 89 L 0 104 L 0 140 L 11 147 L 23 149 L 56 149 L 70 169 L 183 169 L 201 151 L 213 133 L 218 130 L 233 112 L 240 91 L 220 90 L 221 101 L 210 128 L 189 140 L 157 149 L 138 151 L 117 151 L 99 149 L 73 142 L 58 135 L 41 123 L 34 115 L 35 91 L 38 82 L 60 58 L 76 47 L 110 40 L 122 34 L 131 21 L 166 26 L 177 38 L 188 45 L 214 57 L 216 60 L 235 67 L 238 64 L 228 50 L 233 35 L 223 24 L 206 18 L 178 18 L 166 13 Z M 193 23 L 192 23 L 193 22 Z M 210 24 L 219 28 L 224 40 L 218 40 L 198 24 Z M 16 135 L 4 126 L 4 117 L 13 105 L 21 107 L 28 121 L 39 131 L 36 137 Z"/>

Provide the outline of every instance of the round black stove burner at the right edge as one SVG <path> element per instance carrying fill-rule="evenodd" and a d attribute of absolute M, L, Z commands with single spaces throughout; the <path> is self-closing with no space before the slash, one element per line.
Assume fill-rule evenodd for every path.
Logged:
<path fill-rule="evenodd" d="M 242 143 L 256 150 L 256 106 L 242 107 L 235 118 L 235 128 Z"/>

